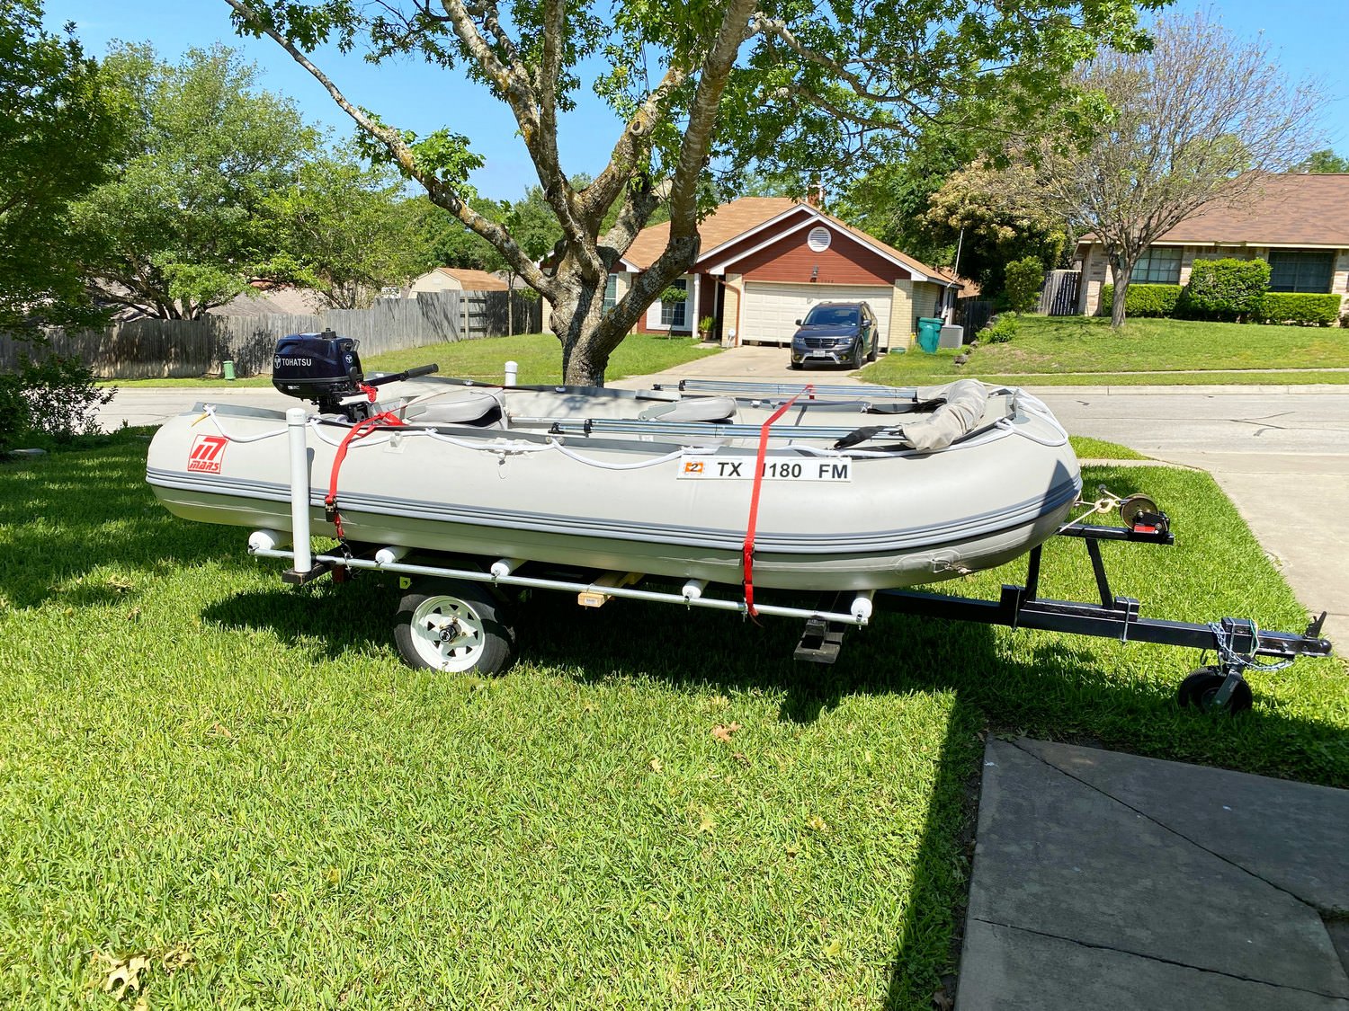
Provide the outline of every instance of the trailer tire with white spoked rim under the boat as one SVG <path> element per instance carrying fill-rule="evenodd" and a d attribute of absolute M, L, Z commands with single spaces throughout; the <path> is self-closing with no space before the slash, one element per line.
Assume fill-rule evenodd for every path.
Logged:
<path fill-rule="evenodd" d="M 515 634 L 502 605 L 478 584 L 422 580 L 398 605 L 394 642 L 418 670 L 496 674 L 510 666 Z"/>

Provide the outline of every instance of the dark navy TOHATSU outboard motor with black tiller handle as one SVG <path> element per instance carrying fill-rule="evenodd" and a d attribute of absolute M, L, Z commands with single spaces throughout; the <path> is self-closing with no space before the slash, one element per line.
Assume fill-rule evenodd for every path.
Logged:
<path fill-rule="evenodd" d="M 282 337 L 271 357 L 271 384 L 286 396 L 318 404 L 321 414 L 343 414 L 359 422 L 371 415 L 375 387 L 438 371 L 438 365 L 420 365 L 366 379 L 356 345 L 355 338 L 332 330 Z"/>

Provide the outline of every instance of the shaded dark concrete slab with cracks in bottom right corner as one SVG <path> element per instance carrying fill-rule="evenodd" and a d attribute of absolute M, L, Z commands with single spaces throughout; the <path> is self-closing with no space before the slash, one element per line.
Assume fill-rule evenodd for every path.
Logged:
<path fill-rule="evenodd" d="M 1349 790 L 985 751 L 956 1011 L 1349 1011 Z"/>

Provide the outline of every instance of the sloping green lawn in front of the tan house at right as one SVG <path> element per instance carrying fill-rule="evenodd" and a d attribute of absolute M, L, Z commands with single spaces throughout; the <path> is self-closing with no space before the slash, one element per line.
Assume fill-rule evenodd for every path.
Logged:
<path fill-rule="evenodd" d="M 862 375 L 893 386 L 948 381 L 954 376 L 1024 386 L 1349 383 L 1349 373 L 1268 372 L 1349 367 L 1349 330 L 1342 328 L 1130 319 L 1121 333 L 1114 333 L 1109 319 L 1043 315 L 1021 317 L 1020 324 L 1016 337 L 978 346 L 965 367 L 955 364 L 954 349 L 924 355 L 915 348 L 907 355 L 884 356 Z M 1205 375 L 1157 375 L 1175 371 Z"/>

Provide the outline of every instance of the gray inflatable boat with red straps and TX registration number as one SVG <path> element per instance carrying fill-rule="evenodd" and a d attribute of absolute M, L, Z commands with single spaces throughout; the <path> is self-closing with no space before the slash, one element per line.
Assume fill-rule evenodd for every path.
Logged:
<path fill-rule="evenodd" d="M 198 404 L 155 435 L 148 483 L 178 516 L 274 539 L 297 487 L 313 532 L 351 545 L 811 590 L 1001 565 L 1081 491 L 1044 404 L 974 380 L 635 392 L 406 375 L 317 394 L 277 379 L 313 411 Z"/>

